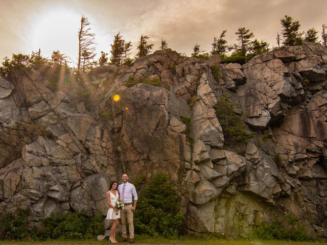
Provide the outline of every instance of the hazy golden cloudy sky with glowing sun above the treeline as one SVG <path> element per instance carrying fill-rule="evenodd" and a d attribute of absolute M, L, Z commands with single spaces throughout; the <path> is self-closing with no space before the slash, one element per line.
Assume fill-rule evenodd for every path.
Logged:
<path fill-rule="evenodd" d="M 59 50 L 76 62 L 82 15 L 95 33 L 97 58 L 101 51 L 110 55 L 118 32 L 132 42 L 132 56 L 141 34 L 150 37 L 153 51 L 164 38 L 172 50 L 190 56 L 196 43 L 211 51 L 223 30 L 228 44 L 237 43 L 240 27 L 276 46 L 285 15 L 298 20 L 301 31 L 316 28 L 321 40 L 327 0 L 0 0 L 0 62 L 39 48 L 45 57 Z"/>

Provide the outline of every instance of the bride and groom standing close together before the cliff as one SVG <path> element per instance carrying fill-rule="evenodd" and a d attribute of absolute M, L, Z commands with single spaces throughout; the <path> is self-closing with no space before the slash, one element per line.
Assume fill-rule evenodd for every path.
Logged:
<path fill-rule="evenodd" d="M 134 242 L 134 225 L 133 225 L 133 212 L 136 208 L 137 203 L 137 193 L 135 186 L 128 182 L 128 175 L 123 174 L 123 183 L 118 186 L 118 182 L 113 181 L 110 184 L 110 189 L 106 193 L 107 203 L 109 205 L 109 210 L 107 213 L 107 219 L 112 220 L 112 227 L 110 231 L 109 241 L 116 243 L 115 233 L 116 227 L 118 225 L 118 219 L 121 218 L 122 221 L 122 240 L 121 242 L 127 241 L 127 230 L 126 230 L 126 219 L 128 222 L 129 229 L 129 242 Z M 132 197 L 134 198 L 134 204 Z M 124 203 L 124 208 L 118 210 L 115 204 L 118 200 L 122 200 Z"/>

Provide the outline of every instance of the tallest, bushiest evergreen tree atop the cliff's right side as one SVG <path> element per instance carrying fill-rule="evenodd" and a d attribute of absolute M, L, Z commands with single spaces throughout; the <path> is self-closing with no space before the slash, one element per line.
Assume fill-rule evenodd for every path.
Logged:
<path fill-rule="evenodd" d="M 295 46 L 303 43 L 302 33 L 299 33 L 301 26 L 299 21 L 294 21 L 291 16 L 285 15 L 285 17 L 281 19 L 281 24 L 283 27 L 282 34 L 284 37 L 284 45 Z"/>

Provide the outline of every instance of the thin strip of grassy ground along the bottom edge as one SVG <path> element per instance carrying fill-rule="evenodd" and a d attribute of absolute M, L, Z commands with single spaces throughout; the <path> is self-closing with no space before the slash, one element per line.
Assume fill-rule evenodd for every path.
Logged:
<path fill-rule="evenodd" d="M 117 240 L 120 240 L 118 238 Z M 83 244 L 83 245 L 96 245 L 108 244 L 108 239 L 103 241 L 97 240 L 74 240 L 74 241 L 0 241 L 0 244 L 19 244 L 19 245 L 59 245 L 59 244 Z M 118 244 L 129 244 L 128 242 Z M 327 244 L 326 242 L 295 242 L 295 241 L 259 241 L 259 240 L 227 240 L 218 238 L 194 238 L 194 237 L 180 237 L 179 239 L 167 239 L 163 237 L 147 237 L 135 236 L 135 245 L 137 244 L 190 244 L 190 245 L 314 245 L 314 244 Z"/>

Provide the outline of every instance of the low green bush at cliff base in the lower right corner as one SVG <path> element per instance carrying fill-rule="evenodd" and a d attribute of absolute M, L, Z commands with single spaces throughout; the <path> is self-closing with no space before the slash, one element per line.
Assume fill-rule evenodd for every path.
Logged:
<path fill-rule="evenodd" d="M 287 215 L 288 228 L 280 220 L 273 220 L 271 223 L 263 223 L 254 229 L 254 235 L 263 240 L 310 240 L 310 236 L 305 231 L 305 226 L 298 222 L 294 215 Z"/>

